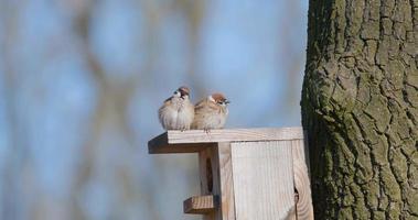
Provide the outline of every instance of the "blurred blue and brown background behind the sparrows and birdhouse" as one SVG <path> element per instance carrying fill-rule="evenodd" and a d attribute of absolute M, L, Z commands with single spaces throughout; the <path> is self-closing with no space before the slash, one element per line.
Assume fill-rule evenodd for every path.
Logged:
<path fill-rule="evenodd" d="M 193 156 L 151 156 L 180 85 L 227 127 L 300 125 L 307 3 L 0 0 L 0 219 L 199 219 Z"/>

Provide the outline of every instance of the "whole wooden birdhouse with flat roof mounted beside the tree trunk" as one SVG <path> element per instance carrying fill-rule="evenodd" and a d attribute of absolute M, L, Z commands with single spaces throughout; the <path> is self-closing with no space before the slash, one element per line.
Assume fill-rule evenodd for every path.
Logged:
<path fill-rule="evenodd" d="M 199 155 L 201 195 L 183 207 L 205 220 L 313 219 L 304 146 L 302 128 L 168 131 L 148 143 L 150 154 Z"/>

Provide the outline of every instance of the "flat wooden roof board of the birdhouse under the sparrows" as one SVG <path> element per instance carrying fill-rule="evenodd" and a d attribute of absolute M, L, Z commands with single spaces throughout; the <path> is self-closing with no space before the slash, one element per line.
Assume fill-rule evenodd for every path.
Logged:
<path fill-rule="evenodd" d="M 283 141 L 303 139 L 302 128 L 282 129 L 224 129 L 168 131 L 148 142 L 150 154 L 195 153 L 203 151 L 204 143 L 244 141 Z"/>

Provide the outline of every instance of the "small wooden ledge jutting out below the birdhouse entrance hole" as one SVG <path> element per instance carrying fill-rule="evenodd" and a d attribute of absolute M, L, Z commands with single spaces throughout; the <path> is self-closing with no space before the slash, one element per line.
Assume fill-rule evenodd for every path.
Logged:
<path fill-rule="evenodd" d="M 183 202 L 184 213 L 207 213 L 214 211 L 217 206 L 215 196 L 194 196 Z"/>

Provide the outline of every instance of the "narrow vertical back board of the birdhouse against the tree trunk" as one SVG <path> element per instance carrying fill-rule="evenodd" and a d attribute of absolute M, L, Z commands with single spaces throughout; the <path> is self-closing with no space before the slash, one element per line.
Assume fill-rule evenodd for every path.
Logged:
<path fill-rule="evenodd" d="M 294 187 L 298 191 L 297 216 L 298 220 L 312 220 L 313 206 L 311 198 L 311 185 L 309 180 L 307 162 L 308 155 L 304 155 L 303 140 L 291 141 L 293 157 L 293 178 Z"/>

